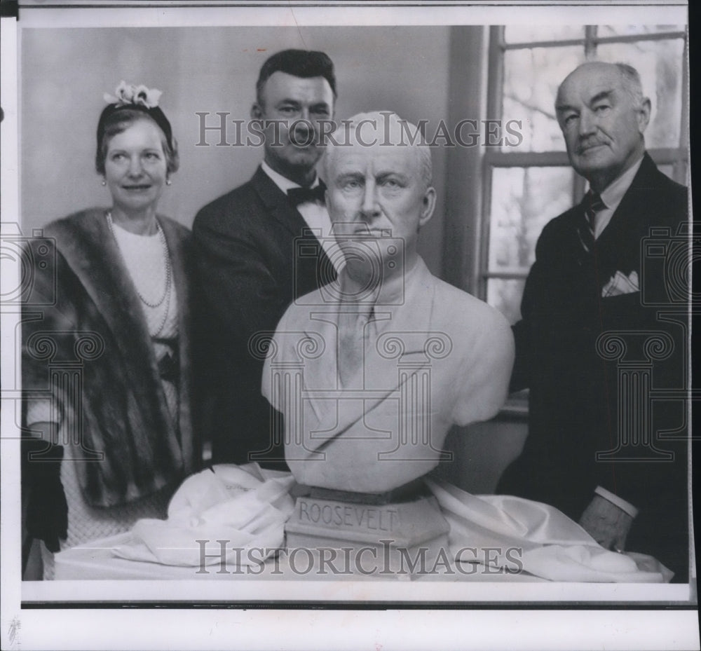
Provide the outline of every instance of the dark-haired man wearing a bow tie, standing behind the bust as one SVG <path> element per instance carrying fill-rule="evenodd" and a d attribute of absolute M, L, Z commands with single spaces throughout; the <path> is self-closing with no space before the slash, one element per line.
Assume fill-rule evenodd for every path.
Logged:
<path fill-rule="evenodd" d="M 330 221 L 315 165 L 336 99 L 325 53 L 283 50 L 261 67 L 251 117 L 264 130 L 264 161 L 250 181 L 203 207 L 193 224 L 203 303 L 198 308 L 212 460 L 285 468 L 280 422 L 260 395 L 263 361 L 252 337 L 274 331 L 285 308 L 335 277 Z M 319 255 L 301 256 L 311 229 Z"/>

